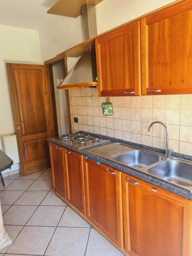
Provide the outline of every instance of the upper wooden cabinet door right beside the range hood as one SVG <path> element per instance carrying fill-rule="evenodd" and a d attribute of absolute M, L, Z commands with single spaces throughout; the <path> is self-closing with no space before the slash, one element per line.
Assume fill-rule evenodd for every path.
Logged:
<path fill-rule="evenodd" d="M 99 96 L 140 95 L 140 21 L 95 40 Z"/>

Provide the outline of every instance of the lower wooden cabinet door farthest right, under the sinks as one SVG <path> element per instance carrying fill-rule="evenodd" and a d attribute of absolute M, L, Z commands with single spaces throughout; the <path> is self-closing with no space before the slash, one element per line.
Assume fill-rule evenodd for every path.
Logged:
<path fill-rule="evenodd" d="M 191 255 L 191 201 L 125 174 L 122 174 L 122 195 L 127 253 Z"/>

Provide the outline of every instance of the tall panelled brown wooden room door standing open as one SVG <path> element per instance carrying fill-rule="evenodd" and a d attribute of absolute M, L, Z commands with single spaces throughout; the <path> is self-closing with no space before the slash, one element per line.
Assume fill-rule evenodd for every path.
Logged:
<path fill-rule="evenodd" d="M 22 175 L 50 167 L 53 115 L 46 66 L 7 63 Z"/>

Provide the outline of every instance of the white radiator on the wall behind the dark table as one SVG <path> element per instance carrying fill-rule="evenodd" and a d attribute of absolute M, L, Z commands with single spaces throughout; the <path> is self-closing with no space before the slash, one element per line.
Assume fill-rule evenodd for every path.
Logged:
<path fill-rule="evenodd" d="M 13 160 L 13 164 L 19 163 L 16 135 L 1 135 L 1 139 L 5 154 Z"/>

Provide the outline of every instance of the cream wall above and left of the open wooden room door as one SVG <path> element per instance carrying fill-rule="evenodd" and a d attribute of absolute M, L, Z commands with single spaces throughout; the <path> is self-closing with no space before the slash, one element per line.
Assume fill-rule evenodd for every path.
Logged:
<path fill-rule="evenodd" d="M 0 25 L 0 135 L 14 133 L 6 62 L 41 64 L 38 31 Z M 0 148 L 2 148 L 0 142 Z"/>

